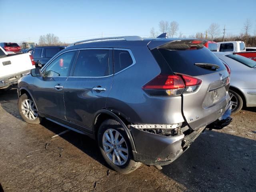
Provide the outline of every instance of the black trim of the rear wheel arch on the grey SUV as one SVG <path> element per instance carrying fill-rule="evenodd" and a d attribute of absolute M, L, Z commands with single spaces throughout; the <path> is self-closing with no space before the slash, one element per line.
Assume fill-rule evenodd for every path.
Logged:
<path fill-rule="evenodd" d="M 109 110 L 106 110 L 106 109 L 102 109 L 102 110 L 99 110 L 95 117 L 94 117 L 94 122 L 93 122 L 93 135 L 95 136 L 95 138 L 97 138 L 97 134 L 98 134 L 98 128 L 100 126 L 100 124 L 106 120 L 106 119 L 109 119 L 109 118 L 112 118 L 116 121 L 118 121 L 122 127 L 124 128 L 127 136 L 128 136 L 128 139 L 130 140 L 130 144 L 131 144 L 131 147 L 132 147 L 132 151 L 136 151 L 135 149 L 135 144 L 134 144 L 134 141 L 133 141 L 133 138 L 132 138 L 132 134 L 130 133 L 129 129 L 127 128 L 127 124 L 129 122 L 127 122 L 125 120 L 125 118 L 123 118 L 122 116 L 117 116 L 115 113 L 109 111 Z"/>

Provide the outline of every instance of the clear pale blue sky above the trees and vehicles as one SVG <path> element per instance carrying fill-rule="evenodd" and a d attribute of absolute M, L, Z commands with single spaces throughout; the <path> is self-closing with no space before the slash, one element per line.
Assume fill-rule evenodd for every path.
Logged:
<path fill-rule="evenodd" d="M 215 22 L 240 34 L 251 20 L 256 32 L 256 0 L 0 0 L 0 42 L 34 41 L 53 33 L 62 42 L 159 32 L 160 20 L 176 21 L 187 37 Z M 222 31 L 221 31 L 222 32 Z M 222 36 L 222 34 L 220 34 Z"/>

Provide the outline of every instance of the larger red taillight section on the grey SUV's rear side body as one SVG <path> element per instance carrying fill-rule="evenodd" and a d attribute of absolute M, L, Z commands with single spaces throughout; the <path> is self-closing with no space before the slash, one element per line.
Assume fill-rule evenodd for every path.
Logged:
<path fill-rule="evenodd" d="M 178 75 L 158 75 L 142 89 L 150 96 L 180 96 L 185 84 Z"/>

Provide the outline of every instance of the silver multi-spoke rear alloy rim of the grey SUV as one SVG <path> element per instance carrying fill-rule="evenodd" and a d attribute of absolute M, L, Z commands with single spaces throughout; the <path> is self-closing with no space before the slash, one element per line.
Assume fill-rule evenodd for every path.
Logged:
<path fill-rule="evenodd" d="M 128 160 L 128 147 L 124 137 L 115 129 L 107 129 L 102 137 L 102 145 L 108 159 L 115 165 L 124 165 Z"/>

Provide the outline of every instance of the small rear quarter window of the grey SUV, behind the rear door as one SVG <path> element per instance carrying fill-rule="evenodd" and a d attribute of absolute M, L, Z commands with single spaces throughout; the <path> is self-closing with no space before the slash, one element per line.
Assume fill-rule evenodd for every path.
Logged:
<path fill-rule="evenodd" d="M 114 50 L 114 71 L 118 73 L 134 64 L 128 50 Z"/>

